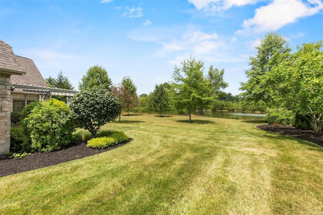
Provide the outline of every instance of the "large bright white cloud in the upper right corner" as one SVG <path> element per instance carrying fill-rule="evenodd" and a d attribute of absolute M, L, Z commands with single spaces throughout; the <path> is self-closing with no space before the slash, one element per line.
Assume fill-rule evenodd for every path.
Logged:
<path fill-rule="evenodd" d="M 323 9 L 320 0 L 274 0 L 271 4 L 256 9 L 253 18 L 243 21 L 243 29 L 236 34 L 262 33 L 277 30 L 297 22 L 300 18 L 319 13 Z"/>

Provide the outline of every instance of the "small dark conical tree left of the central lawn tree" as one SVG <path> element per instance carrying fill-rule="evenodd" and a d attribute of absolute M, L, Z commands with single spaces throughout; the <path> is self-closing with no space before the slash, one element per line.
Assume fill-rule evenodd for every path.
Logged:
<path fill-rule="evenodd" d="M 165 113 L 169 107 L 170 98 L 164 84 L 155 85 L 155 89 L 151 93 L 150 101 L 153 108 L 158 110 L 160 116 Z"/>

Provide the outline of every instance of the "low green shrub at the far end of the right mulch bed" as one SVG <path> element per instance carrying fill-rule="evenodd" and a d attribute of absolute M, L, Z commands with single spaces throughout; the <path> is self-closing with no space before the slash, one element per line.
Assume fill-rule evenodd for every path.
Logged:
<path fill-rule="evenodd" d="M 293 111 L 288 111 L 286 109 L 267 109 L 266 118 L 268 124 L 280 124 L 280 125 L 289 125 L 294 122 L 294 113 Z"/>

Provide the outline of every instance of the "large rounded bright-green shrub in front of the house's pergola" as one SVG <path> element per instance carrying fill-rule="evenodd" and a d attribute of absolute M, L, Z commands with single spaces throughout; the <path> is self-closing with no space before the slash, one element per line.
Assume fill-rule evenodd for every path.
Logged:
<path fill-rule="evenodd" d="M 50 98 L 36 105 L 22 121 L 38 151 L 58 150 L 72 141 L 72 115 L 67 104 Z"/>

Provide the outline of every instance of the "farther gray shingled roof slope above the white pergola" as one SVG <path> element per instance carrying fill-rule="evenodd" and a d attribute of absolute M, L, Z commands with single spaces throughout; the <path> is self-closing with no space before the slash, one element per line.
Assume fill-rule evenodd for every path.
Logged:
<path fill-rule="evenodd" d="M 26 74 L 22 76 L 12 75 L 10 79 L 11 83 L 48 87 L 44 78 L 42 77 L 36 65 L 34 64 L 33 60 L 23 58 L 20 56 L 16 57 L 21 67 L 23 68 L 23 71 L 26 72 Z"/>

